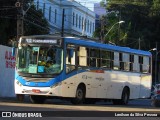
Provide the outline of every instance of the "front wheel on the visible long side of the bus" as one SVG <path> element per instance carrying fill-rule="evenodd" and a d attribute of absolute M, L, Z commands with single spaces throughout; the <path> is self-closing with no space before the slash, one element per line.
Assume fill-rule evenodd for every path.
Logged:
<path fill-rule="evenodd" d="M 85 88 L 84 86 L 79 86 L 76 91 L 75 98 L 71 99 L 72 104 L 81 104 L 85 98 Z"/>

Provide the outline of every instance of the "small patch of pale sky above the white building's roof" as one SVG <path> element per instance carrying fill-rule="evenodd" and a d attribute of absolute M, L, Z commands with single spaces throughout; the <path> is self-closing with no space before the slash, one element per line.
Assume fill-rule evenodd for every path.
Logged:
<path fill-rule="evenodd" d="M 99 3 L 101 0 L 75 0 L 93 11 L 93 3 Z"/>

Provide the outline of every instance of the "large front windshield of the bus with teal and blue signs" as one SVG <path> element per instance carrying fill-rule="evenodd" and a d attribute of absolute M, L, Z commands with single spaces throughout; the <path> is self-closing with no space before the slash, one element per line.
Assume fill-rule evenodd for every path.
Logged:
<path fill-rule="evenodd" d="M 63 69 L 63 50 L 57 46 L 18 47 L 17 71 L 31 74 L 59 74 Z"/>

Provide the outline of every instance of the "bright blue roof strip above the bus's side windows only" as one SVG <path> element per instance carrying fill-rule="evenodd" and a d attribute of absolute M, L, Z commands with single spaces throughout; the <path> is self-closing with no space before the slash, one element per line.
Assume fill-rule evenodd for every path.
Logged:
<path fill-rule="evenodd" d="M 129 47 L 121 47 L 121 46 L 116 46 L 116 45 L 111 45 L 111 44 L 102 44 L 99 42 L 95 42 L 95 41 L 91 41 L 91 40 L 89 41 L 89 40 L 85 40 L 85 39 L 81 39 L 81 38 L 66 37 L 65 39 L 67 42 L 78 44 L 78 45 L 84 45 L 87 47 L 95 47 L 95 48 L 107 49 L 107 50 L 111 50 L 111 51 L 152 56 L 152 54 L 149 51 L 131 49 Z"/>

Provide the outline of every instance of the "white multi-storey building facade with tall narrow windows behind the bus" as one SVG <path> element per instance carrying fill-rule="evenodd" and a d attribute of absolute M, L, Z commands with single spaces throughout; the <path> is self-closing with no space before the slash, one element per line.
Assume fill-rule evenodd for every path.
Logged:
<path fill-rule="evenodd" d="M 96 15 L 74 0 L 34 0 L 50 24 L 50 33 L 92 37 Z M 63 22 L 64 20 L 64 22 Z"/>

